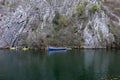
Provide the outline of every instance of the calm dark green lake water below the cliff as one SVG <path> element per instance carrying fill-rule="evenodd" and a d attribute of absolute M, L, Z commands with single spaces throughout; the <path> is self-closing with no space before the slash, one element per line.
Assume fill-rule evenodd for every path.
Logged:
<path fill-rule="evenodd" d="M 0 80 L 120 80 L 120 50 L 0 50 Z"/>

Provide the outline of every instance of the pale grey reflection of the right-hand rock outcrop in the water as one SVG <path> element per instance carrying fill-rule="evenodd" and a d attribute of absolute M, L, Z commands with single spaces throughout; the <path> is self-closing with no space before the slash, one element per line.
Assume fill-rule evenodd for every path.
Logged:
<path fill-rule="evenodd" d="M 89 73 L 93 73 L 94 79 L 97 80 L 101 76 L 108 74 L 110 55 L 106 50 L 89 50 L 85 51 L 85 69 Z M 96 77 L 96 75 L 98 75 Z"/>

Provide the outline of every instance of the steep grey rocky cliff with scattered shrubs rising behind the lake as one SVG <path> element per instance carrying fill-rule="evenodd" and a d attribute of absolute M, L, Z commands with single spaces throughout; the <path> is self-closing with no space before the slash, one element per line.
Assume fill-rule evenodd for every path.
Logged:
<path fill-rule="evenodd" d="M 0 0 L 0 48 L 119 47 L 119 10 L 106 1 Z"/>

